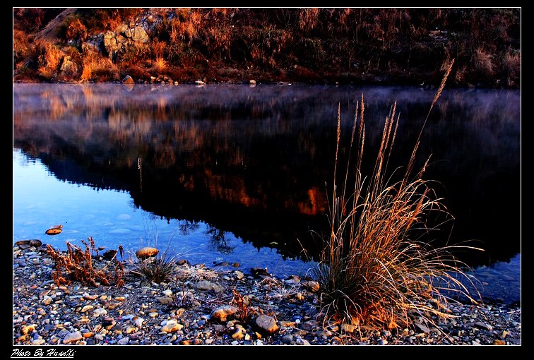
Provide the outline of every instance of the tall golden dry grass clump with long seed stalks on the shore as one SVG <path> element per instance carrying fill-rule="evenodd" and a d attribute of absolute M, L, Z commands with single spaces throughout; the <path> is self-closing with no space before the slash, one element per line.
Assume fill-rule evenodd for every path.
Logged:
<path fill-rule="evenodd" d="M 453 61 L 429 113 L 443 90 L 452 65 Z M 338 110 L 333 203 L 329 205 L 328 213 L 330 234 L 327 239 L 323 237 L 326 247 L 321 261 L 314 268 L 321 287 L 321 317 L 324 323 L 399 328 L 410 325 L 414 315 L 429 323 L 435 316 L 449 316 L 445 309 L 453 299 L 451 292 L 460 292 L 476 302 L 465 282 L 458 277 L 463 275 L 465 280 L 470 281 L 461 270 L 465 264 L 451 255 L 452 248 L 456 246 L 432 247 L 428 241 L 412 238 L 421 229 L 426 232 L 431 230 L 427 224 L 431 213 L 449 213 L 430 182 L 423 179 L 429 160 L 413 174 L 421 135 L 405 172 L 399 174 L 402 175 L 401 180 L 390 184 L 393 173 L 401 171 L 398 168 L 391 174 L 387 172 L 398 120 L 395 104 L 384 124 L 374 170 L 369 176 L 362 174 L 365 138 L 362 95 L 349 148 L 350 151 L 355 148 L 356 152 L 355 185 L 348 188 L 349 159 L 343 186 L 339 187 L 336 178 L 340 147 Z"/>

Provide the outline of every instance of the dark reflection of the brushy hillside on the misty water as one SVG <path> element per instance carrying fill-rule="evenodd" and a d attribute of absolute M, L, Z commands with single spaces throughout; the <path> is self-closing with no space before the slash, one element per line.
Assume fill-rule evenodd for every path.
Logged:
<path fill-rule="evenodd" d="M 34 85 L 21 88 L 26 86 Z M 308 230 L 326 222 L 338 104 L 345 164 L 356 94 L 321 87 L 143 88 L 38 85 L 45 90 L 32 93 L 15 87 L 13 146 L 40 157 L 59 179 L 128 191 L 136 206 L 167 219 L 207 222 L 258 247 L 285 243 L 288 255 L 300 252 L 297 238 L 311 241 Z M 381 121 L 398 100 L 394 169 L 410 155 L 429 102 L 413 92 L 369 92 L 370 164 Z M 429 101 L 434 95 L 416 94 Z M 444 185 L 447 203 L 459 215 L 455 228 L 491 243 L 497 231 L 488 233 L 487 224 L 502 222 L 519 238 L 519 187 L 494 184 L 518 184 L 518 114 L 504 118 L 511 110 L 502 102 L 466 107 L 442 97 L 420 154 L 437 161 L 427 174 Z M 499 204 L 510 211 L 497 214 Z"/>

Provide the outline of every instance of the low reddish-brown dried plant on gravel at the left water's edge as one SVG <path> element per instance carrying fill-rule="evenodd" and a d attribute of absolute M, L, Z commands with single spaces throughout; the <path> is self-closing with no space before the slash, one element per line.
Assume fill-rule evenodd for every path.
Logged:
<path fill-rule="evenodd" d="M 121 287 L 124 285 L 124 267 L 117 260 L 117 252 L 111 260 L 98 264 L 93 260 L 94 251 L 98 254 L 95 247 L 95 241 L 88 237 L 88 242 L 82 240 L 85 250 L 73 245 L 67 241 L 67 251 L 57 251 L 52 246 L 47 245 L 47 253 L 52 257 L 55 263 L 55 269 L 52 271 L 52 279 L 59 285 L 71 284 L 72 281 L 83 282 L 98 287 L 99 284 L 110 286 L 111 284 Z M 123 249 L 119 246 L 119 253 L 122 256 Z M 99 266 L 100 265 L 100 266 Z"/>

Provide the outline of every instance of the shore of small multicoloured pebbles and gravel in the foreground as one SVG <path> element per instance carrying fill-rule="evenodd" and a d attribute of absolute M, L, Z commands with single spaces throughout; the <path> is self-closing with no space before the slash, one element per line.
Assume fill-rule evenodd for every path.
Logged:
<path fill-rule="evenodd" d="M 312 280 L 230 264 L 176 265 L 167 283 L 57 286 L 46 246 L 13 246 L 13 347 L 70 345 L 521 345 L 521 304 L 450 304 L 437 326 L 324 327 Z M 95 258 L 95 264 L 98 263 Z M 105 260 L 101 261 L 105 265 Z M 131 270 L 131 269 L 130 269 Z M 247 321 L 243 321 L 246 309 Z M 240 316 L 237 314 L 240 313 Z M 59 347 L 59 349 L 61 349 Z M 20 350 L 13 350 L 13 352 Z M 12 356 L 13 357 L 13 356 Z"/>

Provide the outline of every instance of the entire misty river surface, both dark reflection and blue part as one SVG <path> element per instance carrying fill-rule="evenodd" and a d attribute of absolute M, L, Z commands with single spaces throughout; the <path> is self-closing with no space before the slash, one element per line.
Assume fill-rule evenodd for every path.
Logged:
<path fill-rule="evenodd" d="M 364 95 L 373 157 L 397 102 L 389 167 L 405 166 L 435 90 L 304 85 L 13 85 L 13 242 L 127 252 L 158 246 L 191 263 L 303 275 L 321 242 L 333 179 Z M 483 252 L 458 257 L 521 291 L 521 94 L 444 90 L 418 164 L 454 220 L 431 236 Z M 64 231 L 45 235 L 52 225 Z M 310 261 L 310 258 L 312 259 Z M 480 268 L 478 268 L 480 266 Z M 499 282 L 497 280 L 502 280 Z M 487 288 L 487 292 L 493 292 Z"/>

